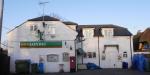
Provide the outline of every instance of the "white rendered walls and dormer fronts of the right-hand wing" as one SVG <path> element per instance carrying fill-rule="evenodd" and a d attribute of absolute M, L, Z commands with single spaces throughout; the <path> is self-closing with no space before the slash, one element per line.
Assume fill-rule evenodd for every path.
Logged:
<path fill-rule="evenodd" d="M 89 38 L 85 37 L 84 30 L 89 29 L 92 32 L 93 28 L 83 28 L 83 38 L 82 42 L 78 44 L 83 44 L 84 52 L 96 52 L 96 58 L 82 58 L 78 57 L 78 64 L 86 64 L 86 63 L 95 63 L 97 66 L 101 68 L 122 68 L 122 62 L 128 63 L 128 68 L 131 67 L 131 60 L 133 54 L 133 40 L 132 36 L 93 36 L 91 34 Z M 102 29 L 102 34 L 104 35 L 104 30 L 111 30 L 113 28 L 104 28 Z M 112 32 L 113 34 L 114 32 Z M 98 39 L 99 38 L 99 39 Z M 99 46 L 98 46 L 99 41 Z M 119 52 L 116 47 L 107 47 L 105 49 L 106 59 L 102 60 L 104 45 L 118 45 Z M 127 52 L 127 58 L 123 57 L 123 52 Z M 111 56 L 112 54 L 112 56 Z M 121 56 L 121 60 L 118 60 L 118 56 Z M 83 59 L 83 60 L 82 60 Z M 110 60 L 111 59 L 111 60 Z"/>

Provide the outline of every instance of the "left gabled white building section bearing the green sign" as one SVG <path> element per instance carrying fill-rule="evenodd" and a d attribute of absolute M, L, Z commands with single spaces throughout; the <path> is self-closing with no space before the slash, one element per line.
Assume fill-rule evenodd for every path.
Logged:
<path fill-rule="evenodd" d="M 46 73 L 59 72 L 60 67 L 69 72 L 70 61 L 75 58 L 76 25 L 44 16 L 29 19 L 9 31 L 10 71 L 15 72 L 16 60 L 29 59 L 31 63 L 44 63 Z"/>

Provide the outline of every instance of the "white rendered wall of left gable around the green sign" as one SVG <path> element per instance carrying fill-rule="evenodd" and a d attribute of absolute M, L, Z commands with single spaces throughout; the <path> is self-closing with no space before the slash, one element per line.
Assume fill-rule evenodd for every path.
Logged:
<path fill-rule="evenodd" d="M 15 72 L 15 61 L 18 59 L 30 59 L 31 63 L 39 63 L 39 57 L 44 58 L 44 72 L 59 72 L 59 64 L 64 64 L 64 71 L 70 71 L 70 61 L 64 62 L 62 54 L 68 52 L 69 56 L 75 56 L 75 39 L 77 32 L 61 21 L 45 21 L 48 25 L 55 27 L 55 37 L 44 34 L 45 41 L 62 41 L 62 48 L 20 48 L 21 41 L 37 41 L 36 33 L 30 31 L 31 25 L 37 25 L 41 31 L 45 31 L 42 27 L 43 21 L 26 21 L 20 26 L 10 31 L 8 37 L 8 55 L 10 56 L 10 71 Z M 66 45 L 64 44 L 66 42 Z M 70 46 L 72 50 L 70 50 Z M 46 56 L 49 54 L 59 55 L 58 62 L 47 62 Z"/>

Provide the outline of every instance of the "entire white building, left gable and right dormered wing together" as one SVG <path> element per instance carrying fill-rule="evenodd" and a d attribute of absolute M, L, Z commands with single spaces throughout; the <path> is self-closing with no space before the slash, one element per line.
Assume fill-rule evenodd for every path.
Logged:
<path fill-rule="evenodd" d="M 117 25 L 78 25 L 50 16 L 29 19 L 8 32 L 10 71 L 16 60 L 43 63 L 44 72 L 77 70 L 94 63 L 101 68 L 131 66 L 132 34 Z M 78 68 L 79 69 L 79 68 Z"/>

